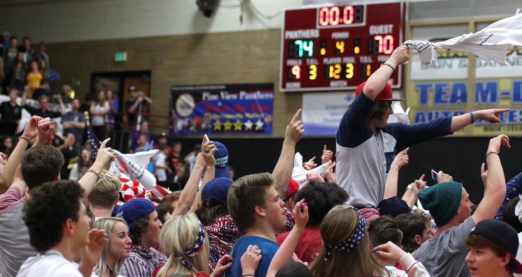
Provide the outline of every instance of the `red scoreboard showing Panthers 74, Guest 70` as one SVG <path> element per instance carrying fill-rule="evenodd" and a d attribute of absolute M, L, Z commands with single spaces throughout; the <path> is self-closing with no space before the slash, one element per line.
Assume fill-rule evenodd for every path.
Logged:
<path fill-rule="evenodd" d="M 284 11 L 281 91 L 355 89 L 402 43 L 404 4 L 353 4 Z M 389 83 L 401 85 L 401 67 Z"/>

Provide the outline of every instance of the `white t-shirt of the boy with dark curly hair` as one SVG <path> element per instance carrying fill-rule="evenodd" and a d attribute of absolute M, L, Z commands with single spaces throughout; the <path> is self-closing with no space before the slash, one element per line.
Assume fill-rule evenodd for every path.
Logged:
<path fill-rule="evenodd" d="M 49 250 L 28 258 L 18 271 L 17 277 L 83 277 L 74 263 L 64 258 L 62 253 Z"/>

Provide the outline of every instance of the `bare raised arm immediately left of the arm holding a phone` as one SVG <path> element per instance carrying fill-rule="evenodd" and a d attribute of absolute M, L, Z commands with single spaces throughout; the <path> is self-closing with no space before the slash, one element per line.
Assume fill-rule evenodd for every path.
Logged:
<path fill-rule="evenodd" d="M 183 187 L 183 191 L 181 191 L 180 199 L 176 202 L 176 207 L 174 208 L 174 212 L 172 212 L 172 216 L 183 215 L 191 210 L 198 191 L 201 174 L 205 172 L 206 167 L 203 154 L 199 153 L 196 157 L 196 165 L 194 166 L 194 169 L 192 169 L 192 173 L 190 177 L 188 177 L 187 184 Z"/>

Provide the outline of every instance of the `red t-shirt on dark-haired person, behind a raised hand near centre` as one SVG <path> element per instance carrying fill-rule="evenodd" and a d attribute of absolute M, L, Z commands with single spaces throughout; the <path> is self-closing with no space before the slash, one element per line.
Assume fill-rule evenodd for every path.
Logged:
<path fill-rule="evenodd" d="M 290 232 L 276 236 L 277 245 L 281 246 Z M 319 255 L 319 250 L 323 248 L 319 227 L 306 227 L 299 238 L 299 243 L 295 247 L 295 255 L 303 262 L 310 263 Z"/>

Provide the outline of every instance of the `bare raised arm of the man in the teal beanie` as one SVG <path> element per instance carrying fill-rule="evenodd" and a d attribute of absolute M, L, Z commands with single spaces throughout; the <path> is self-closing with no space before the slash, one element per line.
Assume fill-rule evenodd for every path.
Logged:
<path fill-rule="evenodd" d="M 509 137 L 499 135 L 490 140 L 488 151 L 486 152 L 488 178 L 484 187 L 484 197 L 482 197 L 477 210 L 471 216 L 475 223 L 479 223 L 484 219 L 493 219 L 506 195 L 506 180 L 499 157 L 501 145 L 511 148 Z"/>

